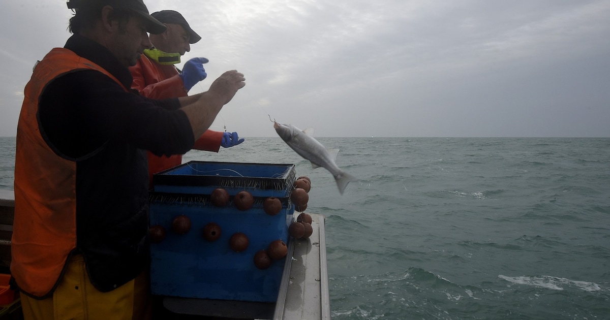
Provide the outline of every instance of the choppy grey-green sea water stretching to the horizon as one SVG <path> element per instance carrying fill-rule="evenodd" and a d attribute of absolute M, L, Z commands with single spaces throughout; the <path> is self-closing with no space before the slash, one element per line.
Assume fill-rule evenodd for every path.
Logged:
<path fill-rule="evenodd" d="M 610 319 L 610 138 L 279 137 L 184 161 L 293 163 L 326 216 L 332 319 Z M 0 138 L 12 190 L 15 138 Z"/>

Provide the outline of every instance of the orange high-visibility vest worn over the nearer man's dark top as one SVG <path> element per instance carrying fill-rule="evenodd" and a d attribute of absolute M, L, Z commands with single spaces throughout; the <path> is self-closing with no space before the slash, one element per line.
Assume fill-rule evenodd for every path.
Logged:
<path fill-rule="evenodd" d="M 123 87 L 101 66 L 55 48 L 35 66 L 24 90 L 16 137 L 10 271 L 20 289 L 35 297 L 52 293 L 76 248 L 76 162 L 49 148 L 37 119 L 38 101 L 51 80 L 83 69 L 104 73 Z"/>

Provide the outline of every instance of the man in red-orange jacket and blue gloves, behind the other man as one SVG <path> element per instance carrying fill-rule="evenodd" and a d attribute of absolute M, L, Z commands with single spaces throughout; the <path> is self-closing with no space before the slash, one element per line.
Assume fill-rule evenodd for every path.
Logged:
<path fill-rule="evenodd" d="M 181 55 L 190 51 L 190 44 L 201 40 L 184 19 L 181 13 L 174 10 L 162 10 L 151 13 L 151 16 L 167 26 L 162 34 L 151 34 L 153 48 L 146 49 L 135 66 L 129 67 L 134 83 L 132 88 L 152 99 L 184 97 L 199 81 L 206 79 L 207 73 L 203 64 L 206 58 L 193 58 L 184 64 L 180 71 Z M 220 146 L 230 148 L 244 141 L 237 132 L 218 132 L 207 130 L 195 141 L 193 149 L 218 152 Z M 152 183 L 152 174 L 180 165 L 182 155 L 157 156 L 148 152 L 148 171 Z"/>

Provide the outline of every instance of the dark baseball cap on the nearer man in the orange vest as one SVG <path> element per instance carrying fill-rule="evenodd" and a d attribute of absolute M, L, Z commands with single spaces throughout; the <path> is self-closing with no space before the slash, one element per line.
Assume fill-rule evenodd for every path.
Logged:
<path fill-rule="evenodd" d="M 167 29 L 165 24 L 153 18 L 143 0 L 68 0 L 68 9 L 86 9 L 93 5 L 110 5 L 115 9 L 128 9 L 146 20 L 146 31 L 151 34 L 162 34 Z"/>

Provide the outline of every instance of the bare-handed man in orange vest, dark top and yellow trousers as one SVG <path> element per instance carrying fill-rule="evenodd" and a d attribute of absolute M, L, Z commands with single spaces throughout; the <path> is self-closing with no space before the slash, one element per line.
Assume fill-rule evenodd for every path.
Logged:
<path fill-rule="evenodd" d="M 245 85 L 151 100 L 129 66 L 166 26 L 142 0 L 70 0 L 73 35 L 34 68 L 16 136 L 11 283 L 24 319 L 145 319 L 146 150 L 192 149 Z M 148 315 L 149 316 L 149 315 Z"/>

